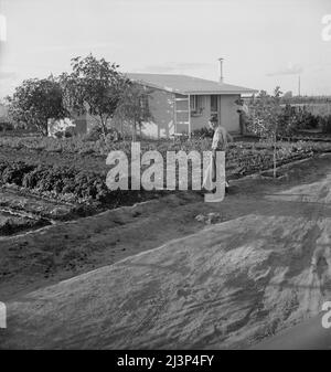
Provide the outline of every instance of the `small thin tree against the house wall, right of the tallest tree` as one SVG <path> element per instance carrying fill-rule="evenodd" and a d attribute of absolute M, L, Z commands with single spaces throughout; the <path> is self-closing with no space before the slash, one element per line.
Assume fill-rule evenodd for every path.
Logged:
<path fill-rule="evenodd" d="M 121 123 L 127 121 L 131 126 L 132 141 L 137 138 L 137 126 L 141 131 L 143 121 L 152 118 L 148 106 L 148 97 L 152 91 L 130 82 L 122 91 L 120 103 L 116 110 L 116 117 Z"/>

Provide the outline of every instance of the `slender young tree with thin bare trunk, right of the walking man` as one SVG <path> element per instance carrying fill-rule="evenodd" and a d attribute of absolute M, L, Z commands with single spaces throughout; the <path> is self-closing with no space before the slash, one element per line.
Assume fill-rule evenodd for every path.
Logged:
<path fill-rule="evenodd" d="M 277 137 L 284 130 L 284 108 L 280 106 L 281 92 L 279 86 L 274 95 L 260 91 L 256 99 L 250 104 L 248 129 L 265 138 L 273 146 L 274 178 L 277 176 Z"/>

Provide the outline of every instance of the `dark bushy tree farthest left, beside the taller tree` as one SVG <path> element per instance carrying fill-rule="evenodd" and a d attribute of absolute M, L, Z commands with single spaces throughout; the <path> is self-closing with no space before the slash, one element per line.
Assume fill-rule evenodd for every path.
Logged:
<path fill-rule="evenodd" d="M 7 97 L 7 102 L 12 120 L 23 123 L 28 128 L 36 127 L 43 136 L 49 134 L 49 119 L 61 119 L 67 115 L 61 86 L 53 76 L 23 81 L 12 97 Z"/>

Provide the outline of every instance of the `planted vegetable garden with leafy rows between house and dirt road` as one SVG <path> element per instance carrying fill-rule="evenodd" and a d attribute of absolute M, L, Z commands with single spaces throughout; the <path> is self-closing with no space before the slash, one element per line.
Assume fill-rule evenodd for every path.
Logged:
<path fill-rule="evenodd" d="M 189 153 L 210 148 L 211 142 L 207 139 L 180 144 L 150 141 L 141 145 L 142 152 L 158 150 L 164 159 L 168 150 Z M 98 147 L 77 139 L 33 139 L 32 142 L 24 139 L 2 139 L 0 184 L 6 188 L 0 191 L 0 209 L 4 221 L 1 234 L 40 227 L 53 220 L 71 220 L 105 209 L 132 205 L 162 195 L 159 190 L 108 190 L 106 176 L 109 169 L 105 156 L 115 149 L 122 149 L 130 157 L 129 142 L 104 144 L 104 147 Z M 330 149 L 331 144 L 279 142 L 277 163 L 289 163 Z M 271 166 L 273 151 L 268 144 L 236 142 L 231 145 L 226 153 L 226 173 L 229 180 L 268 170 Z M 191 173 L 190 168 L 189 172 Z M 189 189 L 190 187 L 191 174 Z"/>

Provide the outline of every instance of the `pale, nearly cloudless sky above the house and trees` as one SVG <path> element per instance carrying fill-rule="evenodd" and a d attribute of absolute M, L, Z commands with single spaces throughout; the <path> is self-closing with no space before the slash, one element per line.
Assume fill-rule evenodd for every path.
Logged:
<path fill-rule="evenodd" d="M 0 99 L 88 53 L 214 81 L 223 57 L 225 83 L 297 94 L 300 75 L 301 94 L 331 95 L 328 14 L 331 0 L 0 0 Z"/>

